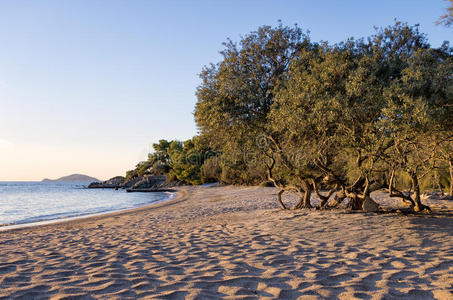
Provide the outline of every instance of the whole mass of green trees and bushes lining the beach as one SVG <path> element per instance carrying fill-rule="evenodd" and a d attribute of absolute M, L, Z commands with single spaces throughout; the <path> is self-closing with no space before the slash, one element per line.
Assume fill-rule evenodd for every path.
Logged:
<path fill-rule="evenodd" d="M 154 144 L 127 172 L 187 184 L 269 182 L 300 194 L 296 208 L 386 188 L 414 211 L 423 189 L 453 194 L 453 48 L 432 48 L 396 22 L 367 39 L 313 42 L 300 27 L 263 26 L 228 40 L 197 89 L 199 136 Z M 321 189 L 329 190 L 322 194 Z M 329 202 L 335 195 L 334 203 Z"/>

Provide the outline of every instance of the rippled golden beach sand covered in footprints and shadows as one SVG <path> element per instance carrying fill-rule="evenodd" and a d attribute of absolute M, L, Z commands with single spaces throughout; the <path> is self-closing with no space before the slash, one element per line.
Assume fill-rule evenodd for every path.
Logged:
<path fill-rule="evenodd" d="M 404 216 L 281 211 L 264 187 L 178 192 L 146 208 L 0 233 L 0 297 L 453 299 L 452 201 L 427 200 L 433 215 Z"/>

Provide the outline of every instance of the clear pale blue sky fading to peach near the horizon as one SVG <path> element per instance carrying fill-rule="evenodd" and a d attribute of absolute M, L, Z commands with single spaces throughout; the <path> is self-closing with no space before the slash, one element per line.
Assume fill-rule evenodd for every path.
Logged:
<path fill-rule="evenodd" d="M 197 133 L 198 74 L 227 38 L 297 23 L 312 40 L 397 18 L 433 46 L 442 0 L 0 1 L 0 181 L 124 175 L 159 139 Z"/>

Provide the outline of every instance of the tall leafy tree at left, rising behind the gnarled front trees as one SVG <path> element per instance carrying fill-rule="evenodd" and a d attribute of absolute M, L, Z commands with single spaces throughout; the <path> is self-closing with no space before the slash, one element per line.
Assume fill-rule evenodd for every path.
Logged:
<path fill-rule="evenodd" d="M 250 161 L 259 153 L 256 136 L 266 130 L 275 89 L 285 79 L 292 58 L 309 45 L 308 36 L 297 26 L 263 26 L 239 44 L 228 40 L 221 51 L 223 60 L 203 69 L 195 121 L 202 135 L 210 137 L 213 149 L 221 150 L 225 181 L 256 183 L 263 178 L 264 174 L 250 176 L 263 167 L 258 160 Z"/>

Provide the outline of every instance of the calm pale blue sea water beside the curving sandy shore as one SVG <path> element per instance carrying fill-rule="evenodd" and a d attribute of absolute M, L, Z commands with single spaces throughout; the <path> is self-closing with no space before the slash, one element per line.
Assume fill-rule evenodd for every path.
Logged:
<path fill-rule="evenodd" d="M 167 200 L 170 193 L 87 189 L 87 183 L 0 182 L 0 225 L 117 211 Z"/>

